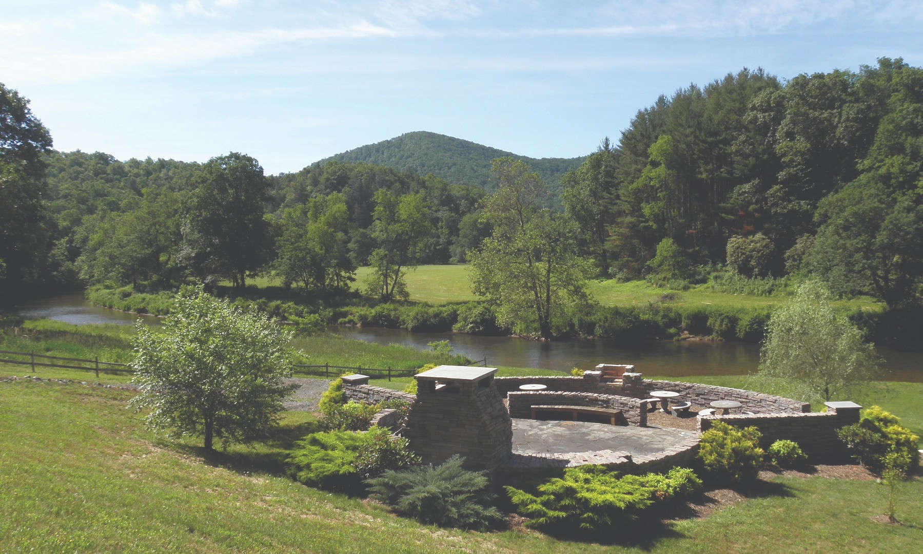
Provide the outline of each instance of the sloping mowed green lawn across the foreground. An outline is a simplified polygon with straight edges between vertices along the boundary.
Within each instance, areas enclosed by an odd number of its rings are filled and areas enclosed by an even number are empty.
[[[310,417],[206,461],[197,440],[165,440],[126,409],[125,391],[0,383],[0,551],[197,552],[911,552],[923,542],[923,480],[905,484],[904,524],[876,523],[874,481],[777,477],[703,520],[614,533],[608,544],[534,531],[416,524],[375,502],[282,475]]]

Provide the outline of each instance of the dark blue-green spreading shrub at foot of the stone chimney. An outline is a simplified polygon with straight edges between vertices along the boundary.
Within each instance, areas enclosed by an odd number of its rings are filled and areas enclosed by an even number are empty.
[[[425,524],[483,529],[497,523],[500,514],[491,506],[487,477],[462,467],[455,455],[444,464],[417,465],[402,471],[386,471],[366,480],[372,497],[394,512]]]

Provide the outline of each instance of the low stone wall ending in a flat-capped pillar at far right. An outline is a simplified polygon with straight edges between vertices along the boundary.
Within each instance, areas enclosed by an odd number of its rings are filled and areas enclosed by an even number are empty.
[[[699,417],[699,430],[708,430],[715,421],[737,428],[754,426],[762,433],[760,446],[763,449],[775,440],[794,440],[812,462],[843,462],[849,459],[849,452],[843,441],[836,436],[836,430],[857,423],[860,408],[854,403],[827,403],[825,413],[702,415]]]

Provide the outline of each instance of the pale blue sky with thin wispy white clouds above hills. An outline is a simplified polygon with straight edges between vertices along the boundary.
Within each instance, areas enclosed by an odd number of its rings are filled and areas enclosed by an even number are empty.
[[[267,173],[408,131],[533,157],[741,67],[923,65],[923,2],[0,0],[0,82],[58,150]]]

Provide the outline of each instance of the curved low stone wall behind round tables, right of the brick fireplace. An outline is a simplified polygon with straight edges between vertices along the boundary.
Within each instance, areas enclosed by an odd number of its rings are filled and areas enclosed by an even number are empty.
[[[638,379],[623,378],[622,394],[626,396],[649,398],[651,391],[676,391],[679,392],[677,401],[689,401],[701,406],[708,406],[715,400],[736,400],[742,404],[740,411],[757,414],[803,414],[810,411],[809,403],[762,392],[701,383],[640,379],[640,375]]]

